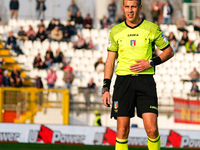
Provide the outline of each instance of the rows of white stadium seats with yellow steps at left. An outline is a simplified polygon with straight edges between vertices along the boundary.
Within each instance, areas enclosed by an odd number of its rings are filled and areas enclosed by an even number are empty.
[[[13,31],[15,36],[19,31],[19,27],[23,26],[24,29],[32,24],[34,29],[37,29],[38,21],[35,20],[9,20],[8,25],[0,25],[1,40],[5,41],[9,31]],[[48,25],[48,21],[45,24]],[[164,34],[168,34],[172,31],[176,35],[177,39],[180,40],[182,32],[178,31],[175,25],[160,25],[161,30]],[[189,31],[189,37],[195,41],[197,44],[200,41],[199,34],[193,30],[193,26],[187,27]],[[11,50],[3,49],[1,44],[0,58],[4,59],[6,65],[2,65],[2,70],[8,69],[11,71],[13,67],[17,66],[18,69],[22,71],[23,77],[26,79],[25,86],[33,86],[34,77],[39,75],[43,81],[44,88],[47,88],[46,76],[47,70],[38,70],[33,68],[34,57],[40,53],[41,58],[44,60],[46,50],[51,46],[53,53],[55,54],[56,49],[60,47],[64,56],[71,61],[71,66],[74,68],[75,79],[72,83],[71,93],[75,101],[84,102],[84,96],[79,93],[79,87],[86,87],[87,81],[90,77],[94,78],[94,82],[100,89],[103,81],[103,73],[98,73],[94,70],[94,63],[99,58],[102,57],[105,62],[107,55],[106,46],[107,38],[109,35],[109,29],[83,29],[82,35],[84,38],[92,38],[95,44],[94,50],[73,49],[72,42],[49,42],[45,40],[40,41],[24,41],[19,42],[20,48],[23,50],[25,55],[14,56]],[[75,40],[73,38],[73,40]],[[185,47],[180,46],[178,52],[175,54],[174,58],[169,60],[156,68],[155,81],[157,83],[157,91],[159,97],[159,105],[162,106],[172,106],[174,96],[187,98],[188,92],[190,92],[191,82],[183,82],[183,79],[189,79],[188,73],[193,67],[200,68],[200,54],[197,53],[186,53]],[[63,71],[60,70],[60,65],[53,65],[54,70],[58,79],[55,83],[56,88],[63,88]],[[112,84],[115,80],[115,75],[112,79]],[[200,86],[200,83],[197,83]],[[111,87],[111,92],[113,88]],[[99,92],[100,93],[100,92]],[[92,101],[99,101],[98,95],[92,95]],[[99,101],[100,102],[100,101]],[[161,110],[162,111],[162,110]]]

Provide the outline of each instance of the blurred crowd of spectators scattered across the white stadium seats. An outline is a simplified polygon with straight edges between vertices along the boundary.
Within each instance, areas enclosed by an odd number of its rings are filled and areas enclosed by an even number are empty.
[[[73,41],[74,49],[95,49],[95,45],[92,39],[84,39],[81,31],[83,29],[93,29],[94,28],[94,18],[91,17],[91,14],[87,14],[85,17],[82,16],[81,10],[74,0],[71,0],[69,7],[67,8],[67,21],[65,24],[59,18],[53,18],[48,26],[45,26],[45,11],[47,9],[45,0],[36,0],[36,19],[40,20],[40,23],[37,25],[37,30],[29,25],[28,30],[24,30],[23,26],[20,27],[20,30],[15,37],[10,31],[8,33],[8,38],[5,41],[4,47],[14,50],[17,55],[24,54],[20,49],[20,46],[17,45],[17,40],[19,41],[56,41],[56,42],[72,42],[74,36],[77,37]],[[20,8],[20,2],[18,0],[10,0],[10,19],[18,19],[18,11]],[[182,33],[181,39],[176,37],[177,34],[170,32],[167,36],[170,45],[174,49],[174,52],[178,52],[180,46],[184,46],[187,53],[200,53],[200,42],[196,42],[194,39],[189,38],[187,26],[189,23],[185,20],[184,16],[181,16],[176,22],[172,22],[172,17],[174,15],[174,6],[170,3],[169,0],[164,2],[154,1],[151,7],[152,20],[157,25],[176,25],[178,32]],[[125,20],[123,10],[121,15],[118,17],[117,14],[117,3],[114,0],[109,0],[107,6],[107,14],[103,15],[99,20],[100,28],[110,29],[113,25],[121,23]],[[146,19],[146,16],[143,12],[140,13],[140,17]],[[0,18],[0,24],[1,24]],[[200,17],[196,17],[193,22],[194,31],[197,33],[200,32]],[[44,60],[44,61],[42,61]],[[64,71],[63,81],[66,83],[65,87],[71,87],[71,84],[74,80],[73,67],[70,65],[70,61],[66,60],[62,50],[58,48],[54,54],[51,50],[51,47],[46,50],[45,58],[41,58],[41,54],[38,53],[34,58],[33,67],[38,69],[47,69],[49,73],[47,75],[47,83],[49,88],[54,88],[57,75],[53,70],[53,64],[62,64],[61,70]],[[97,62],[94,64],[95,71],[103,72],[104,71],[104,62],[100,57]],[[2,86],[14,86],[20,87],[23,86],[24,78],[21,76],[20,71],[17,68],[14,68],[12,74],[8,74],[8,70],[5,70],[2,74],[1,85]],[[41,78],[36,76],[37,87],[43,87]],[[192,81],[198,82],[198,81]],[[194,83],[195,84],[195,83]],[[86,85],[87,86],[87,85]]]

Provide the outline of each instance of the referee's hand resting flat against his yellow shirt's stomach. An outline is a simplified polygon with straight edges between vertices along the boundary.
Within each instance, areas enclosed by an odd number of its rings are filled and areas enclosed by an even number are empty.
[[[144,70],[147,70],[149,68],[151,68],[149,61],[148,60],[136,60],[135,61],[137,64],[131,65],[130,66],[130,70],[134,71],[134,72],[142,72]]]

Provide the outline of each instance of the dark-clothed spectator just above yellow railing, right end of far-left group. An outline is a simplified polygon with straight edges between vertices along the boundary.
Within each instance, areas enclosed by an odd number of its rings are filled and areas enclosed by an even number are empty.
[[[22,87],[24,83],[24,78],[21,76],[20,71],[18,71],[17,67],[13,68],[10,78],[11,84],[13,87]]]

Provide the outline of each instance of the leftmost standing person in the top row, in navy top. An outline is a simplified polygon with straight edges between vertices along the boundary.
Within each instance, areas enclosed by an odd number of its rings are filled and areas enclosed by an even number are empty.
[[[15,16],[15,19],[18,18],[18,10],[19,10],[19,1],[18,0],[11,0],[10,1],[10,19]]]

